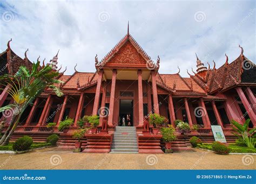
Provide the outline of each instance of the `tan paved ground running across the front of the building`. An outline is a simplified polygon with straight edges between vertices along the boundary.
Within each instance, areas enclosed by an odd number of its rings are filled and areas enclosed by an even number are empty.
[[[255,169],[256,155],[244,156],[203,150],[172,154],[89,154],[51,147],[24,154],[0,154],[0,169]],[[248,159],[255,161],[250,164]]]

